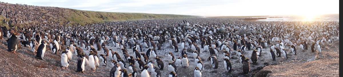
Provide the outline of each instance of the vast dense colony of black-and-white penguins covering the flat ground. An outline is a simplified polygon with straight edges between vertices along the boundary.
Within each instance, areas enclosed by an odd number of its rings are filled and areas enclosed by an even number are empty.
[[[111,77],[137,77],[137,74],[161,77],[164,75],[161,71],[167,71],[169,77],[176,77],[182,73],[179,69],[194,69],[192,75],[201,77],[203,71],[218,70],[218,67],[225,69],[219,71],[223,73],[239,71],[249,74],[250,64],[261,64],[261,59],[289,60],[293,57],[288,55],[297,56],[302,52],[322,54],[325,50],[322,51],[321,46],[339,40],[339,31],[335,28],[339,26],[338,21],[323,22],[328,28],[319,31],[302,29],[324,27],[313,27],[309,23],[278,26],[268,23],[251,25],[262,22],[245,25],[230,22],[198,24],[186,20],[163,25],[159,22],[166,21],[121,21],[60,28],[31,26],[18,30],[1,27],[0,39],[7,41],[7,50],[14,54],[22,46],[28,47],[28,51],[34,52],[35,58],[40,60],[44,60],[45,54],[60,56],[61,69],[68,70],[72,60],[76,62],[75,71],[81,73],[96,73],[100,66],[110,66]],[[194,22],[198,21],[194,19]],[[308,50],[309,45],[311,50]],[[297,49],[300,52],[296,52]],[[239,63],[233,62],[234,59]],[[211,68],[205,69],[205,64]],[[235,68],[233,65],[240,66]]]

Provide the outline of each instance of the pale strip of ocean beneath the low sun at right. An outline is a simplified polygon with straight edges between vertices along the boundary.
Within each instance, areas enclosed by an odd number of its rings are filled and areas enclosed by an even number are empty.
[[[253,18],[267,18],[259,19],[257,21],[339,21],[339,14],[326,14],[317,16],[296,16],[296,15],[283,15],[283,16],[268,16],[268,17],[253,17]]]

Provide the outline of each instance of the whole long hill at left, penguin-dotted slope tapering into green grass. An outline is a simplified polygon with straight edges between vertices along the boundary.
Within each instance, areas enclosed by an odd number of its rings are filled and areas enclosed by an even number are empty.
[[[31,26],[45,24],[85,25],[87,23],[102,23],[109,21],[204,18],[202,16],[191,15],[82,11],[70,8],[10,4],[3,2],[0,3],[0,13],[0,24],[5,26],[7,26],[10,20],[13,22],[11,24],[12,26]],[[3,19],[5,19],[5,22],[3,22]],[[23,22],[20,23],[21,21]]]

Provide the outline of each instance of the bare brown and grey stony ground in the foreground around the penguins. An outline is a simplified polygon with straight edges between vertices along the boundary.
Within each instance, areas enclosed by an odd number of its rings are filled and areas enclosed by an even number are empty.
[[[139,40],[141,42],[141,40]],[[60,54],[54,55],[51,53],[50,49],[47,48],[44,60],[39,60],[35,58],[35,53],[31,52],[28,47],[22,46],[21,49],[17,50],[17,54],[7,51],[7,43],[4,39],[0,40],[0,76],[1,77],[43,77],[43,76],[53,76],[53,77],[108,77],[109,71],[112,66],[109,64],[110,60],[107,59],[108,65],[98,66],[96,72],[93,73],[89,66],[85,66],[86,70],[84,73],[77,73],[76,71],[76,56],[73,54],[73,60],[70,61],[67,70],[61,69]],[[69,44],[69,43],[67,43]],[[178,45],[180,46],[181,43]],[[187,45],[187,43],[186,43]],[[78,45],[80,46],[80,45]],[[200,46],[200,44],[199,44]],[[49,46],[47,46],[49,47]],[[96,47],[96,46],[94,46]],[[115,48],[112,42],[108,42],[106,45],[108,49],[114,49],[119,54],[122,52]],[[165,64],[164,70],[161,70],[162,77],[167,77],[169,75],[167,67],[167,53],[172,51],[169,46],[168,41],[162,44],[162,50],[156,50],[158,57],[160,57]],[[179,47],[180,48],[180,47]],[[189,48],[186,46],[186,48]],[[286,46],[289,49],[290,46]],[[89,50],[85,50],[82,47],[85,54],[89,54]],[[299,46],[297,46],[299,49]],[[181,50],[181,49],[179,49]],[[132,49],[127,49],[129,55],[134,56]],[[146,48],[143,49],[145,53]],[[289,59],[285,60],[283,57],[276,57],[276,61],[272,61],[270,58],[269,48],[264,48],[262,55],[257,63],[250,63],[251,71],[249,74],[242,73],[242,64],[239,64],[238,59],[233,59],[238,57],[237,55],[231,55],[233,71],[230,73],[225,73],[223,54],[218,56],[218,69],[213,69],[210,62],[206,59],[210,56],[209,52],[203,52],[201,49],[201,58],[203,59],[204,71],[202,71],[203,77],[338,77],[339,76],[339,41],[334,41],[334,43],[325,43],[322,45],[322,53],[317,52],[312,53],[309,50],[300,51],[297,54],[289,53]],[[252,50],[246,51],[244,54],[246,57],[250,58]],[[61,52],[59,52],[61,53]],[[104,54],[103,51],[98,51],[100,54]],[[180,52],[173,52],[174,56],[181,56]],[[192,77],[193,70],[196,66],[194,58],[190,52],[187,53],[189,56],[189,67],[188,68],[177,68],[177,75],[179,77]],[[123,56],[121,56],[123,57]],[[150,57],[149,60],[153,60]],[[154,60],[153,60],[154,61]],[[154,64],[155,65],[155,64]],[[140,74],[138,74],[140,75]],[[139,76],[140,77],[140,76]]]

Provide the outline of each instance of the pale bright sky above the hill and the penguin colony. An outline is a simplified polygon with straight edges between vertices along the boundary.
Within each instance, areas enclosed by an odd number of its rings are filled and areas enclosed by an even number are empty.
[[[85,11],[194,16],[339,14],[339,0],[0,0]]]

